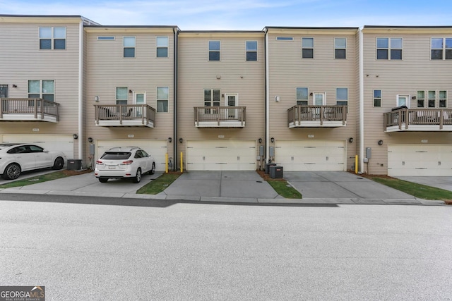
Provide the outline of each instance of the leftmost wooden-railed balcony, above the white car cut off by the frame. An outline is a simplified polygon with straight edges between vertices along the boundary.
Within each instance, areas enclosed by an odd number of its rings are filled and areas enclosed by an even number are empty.
[[[59,121],[59,104],[40,98],[0,98],[0,121]]]

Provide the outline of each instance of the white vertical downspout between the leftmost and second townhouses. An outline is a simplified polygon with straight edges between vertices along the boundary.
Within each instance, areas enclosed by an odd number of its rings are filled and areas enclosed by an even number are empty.
[[[83,19],[78,27],[78,159],[83,159]],[[69,158],[68,158],[69,159]]]

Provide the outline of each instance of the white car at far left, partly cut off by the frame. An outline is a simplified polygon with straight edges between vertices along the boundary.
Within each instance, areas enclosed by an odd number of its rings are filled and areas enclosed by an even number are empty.
[[[26,143],[0,143],[0,172],[5,180],[14,180],[23,171],[49,167],[61,169],[64,164],[64,152],[49,152]]]

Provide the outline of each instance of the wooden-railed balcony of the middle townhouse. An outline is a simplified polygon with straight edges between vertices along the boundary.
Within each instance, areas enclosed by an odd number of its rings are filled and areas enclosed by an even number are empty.
[[[196,106],[196,128],[244,128],[246,106]]]

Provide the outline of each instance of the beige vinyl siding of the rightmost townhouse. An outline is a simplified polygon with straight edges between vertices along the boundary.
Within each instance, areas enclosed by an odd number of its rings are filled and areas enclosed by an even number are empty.
[[[364,147],[372,148],[368,164],[370,173],[386,174],[388,145],[451,144],[449,133],[413,132],[384,133],[383,113],[397,106],[398,94],[410,96],[410,107],[416,109],[417,90],[446,90],[448,108],[452,107],[450,80],[452,60],[430,60],[431,37],[451,37],[452,30],[363,30],[364,32]],[[376,60],[376,37],[402,37],[403,60]],[[369,76],[367,76],[369,75]],[[378,75],[378,76],[377,76]],[[373,106],[373,90],[381,90],[381,108]],[[378,141],[383,140],[379,146]]]

